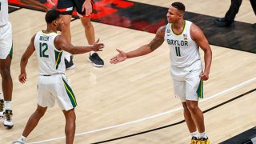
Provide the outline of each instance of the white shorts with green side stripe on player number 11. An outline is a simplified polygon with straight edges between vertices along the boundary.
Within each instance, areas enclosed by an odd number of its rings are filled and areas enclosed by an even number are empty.
[[[203,81],[199,77],[201,73],[201,60],[186,67],[170,66],[170,74],[174,82],[175,97],[180,98],[182,102],[186,102],[186,100],[198,101],[198,98],[203,98]]]

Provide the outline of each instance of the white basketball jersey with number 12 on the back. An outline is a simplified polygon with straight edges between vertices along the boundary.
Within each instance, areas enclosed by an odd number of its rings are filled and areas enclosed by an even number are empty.
[[[34,47],[38,57],[39,75],[65,74],[65,62],[62,50],[54,46],[58,34],[45,34],[39,31],[34,38]]]

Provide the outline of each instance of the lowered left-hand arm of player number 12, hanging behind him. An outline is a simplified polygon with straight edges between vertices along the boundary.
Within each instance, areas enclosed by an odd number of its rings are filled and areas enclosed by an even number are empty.
[[[21,74],[18,76],[18,81],[21,83],[26,82],[26,64],[30,58],[30,56],[34,53],[34,37],[35,35],[31,38],[30,40],[30,45],[27,46],[26,51],[22,55],[21,62],[20,62],[20,67],[21,67]]]

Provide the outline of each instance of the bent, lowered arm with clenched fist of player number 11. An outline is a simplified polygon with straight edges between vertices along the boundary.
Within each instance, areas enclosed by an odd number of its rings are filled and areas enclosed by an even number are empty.
[[[202,30],[194,24],[192,24],[192,26],[191,26],[190,34],[191,34],[191,38],[204,51],[205,69],[202,72],[202,74],[200,74],[200,78],[202,78],[202,80],[206,81],[209,79],[210,65],[211,65],[211,60],[212,60],[212,51],[210,49],[209,42],[206,39],[205,35],[203,34]]]

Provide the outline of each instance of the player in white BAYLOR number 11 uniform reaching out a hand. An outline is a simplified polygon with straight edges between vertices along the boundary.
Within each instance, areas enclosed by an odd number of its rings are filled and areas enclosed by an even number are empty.
[[[174,82],[174,94],[182,101],[186,125],[192,135],[191,143],[208,144],[210,142],[206,136],[202,111],[198,107],[198,98],[202,98],[202,81],[209,78],[212,52],[202,30],[183,19],[184,12],[185,6],[181,2],[172,3],[166,14],[168,24],[158,29],[149,44],[128,53],[118,50],[119,54],[111,58],[110,63],[116,64],[126,58],[149,54],[166,41],[170,47],[170,74]],[[204,70],[199,47],[204,51]]]

